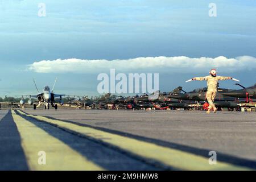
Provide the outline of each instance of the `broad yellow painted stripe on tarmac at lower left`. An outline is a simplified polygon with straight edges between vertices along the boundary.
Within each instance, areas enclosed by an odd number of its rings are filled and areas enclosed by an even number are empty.
[[[31,170],[103,170],[67,144],[17,115],[14,110],[11,110],[11,114],[20,133],[22,147]],[[44,155],[39,151],[46,152],[46,165],[38,163]]]

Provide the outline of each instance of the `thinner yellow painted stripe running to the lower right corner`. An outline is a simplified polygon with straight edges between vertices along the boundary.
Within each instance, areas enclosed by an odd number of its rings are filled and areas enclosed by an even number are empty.
[[[122,150],[131,152],[132,154],[141,156],[146,159],[154,159],[167,166],[175,167],[185,170],[249,170],[249,168],[234,166],[233,164],[218,162],[216,165],[210,165],[209,158],[191,154],[168,147],[158,146],[154,143],[144,142],[133,138],[123,137],[121,135],[108,133],[93,129],[86,126],[79,126],[69,122],[63,122],[58,119],[49,119],[46,117],[31,115],[23,113],[18,110],[20,114],[26,115],[31,118],[38,119],[39,121],[57,125],[62,129],[72,130],[76,133],[85,135],[86,137],[94,138],[102,142],[112,144]]]

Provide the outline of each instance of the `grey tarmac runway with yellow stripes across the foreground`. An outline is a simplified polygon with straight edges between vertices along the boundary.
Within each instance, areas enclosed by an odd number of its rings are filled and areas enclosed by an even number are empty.
[[[100,169],[256,169],[256,112],[220,111],[216,114],[205,114],[204,111],[169,110],[24,111],[25,114],[16,113],[17,116],[8,110],[0,111],[0,169],[44,169],[31,167],[33,165],[30,162],[26,164],[27,155],[30,155],[29,152],[34,148],[30,147],[31,145],[24,148],[24,144],[19,144],[20,140],[26,139],[26,133],[37,128],[47,133],[48,137],[59,139],[72,151],[95,164],[93,167]],[[22,119],[32,123],[35,129],[23,126]],[[15,123],[18,126],[16,130],[13,129]],[[4,132],[6,129],[10,130],[9,134]],[[9,135],[15,134],[20,136],[11,139]],[[10,146],[10,143],[16,143],[18,146],[11,145],[9,150],[13,148],[11,154],[16,151],[15,158],[20,161],[20,165],[9,162],[13,156],[9,156],[6,147]],[[138,146],[133,148],[133,144]],[[147,150],[143,151],[144,149]],[[209,151],[217,152],[217,168],[208,163]],[[72,153],[71,158],[78,155],[77,153]],[[66,155],[69,156],[69,153]],[[182,161],[181,158],[187,160]],[[93,170],[93,167],[86,169]],[[64,168],[54,166],[51,169]]]

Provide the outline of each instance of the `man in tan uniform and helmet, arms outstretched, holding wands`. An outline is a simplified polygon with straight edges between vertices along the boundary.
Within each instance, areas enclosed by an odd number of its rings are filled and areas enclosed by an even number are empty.
[[[216,113],[217,108],[214,105],[214,98],[216,97],[217,93],[217,85],[218,85],[218,80],[232,80],[232,77],[225,77],[225,76],[216,76],[216,69],[211,69],[210,70],[210,75],[205,76],[205,77],[195,77],[192,78],[192,80],[207,80],[207,101],[209,103],[209,107],[207,110],[207,114],[210,113],[210,110],[213,109],[213,113]]]

